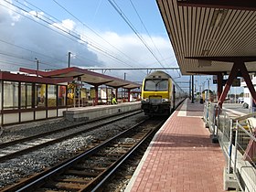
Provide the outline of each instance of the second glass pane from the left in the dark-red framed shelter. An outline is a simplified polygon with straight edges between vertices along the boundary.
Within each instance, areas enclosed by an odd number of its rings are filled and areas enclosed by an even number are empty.
[[[20,85],[20,107],[21,109],[32,108],[32,83],[21,82]]]

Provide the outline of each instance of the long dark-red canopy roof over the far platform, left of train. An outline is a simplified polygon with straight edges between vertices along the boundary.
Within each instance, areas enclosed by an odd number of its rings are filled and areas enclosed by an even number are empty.
[[[76,67],[66,69],[56,69],[51,71],[37,71],[35,69],[20,68],[21,72],[29,74],[38,74],[47,78],[68,78],[72,77],[74,80],[81,80],[88,84],[99,86],[105,84],[113,88],[123,87],[124,89],[135,89],[141,87],[140,84],[131,82],[129,80],[121,80],[112,76],[96,73],[88,69],[80,69]]]

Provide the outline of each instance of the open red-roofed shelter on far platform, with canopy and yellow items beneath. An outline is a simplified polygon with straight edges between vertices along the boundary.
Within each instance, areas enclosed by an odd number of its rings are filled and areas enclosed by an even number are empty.
[[[20,71],[30,74],[37,73],[37,71],[33,69],[22,68]],[[121,80],[88,69],[76,67],[56,69],[47,72],[38,71],[38,74],[46,78],[73,78],[72,82],[69,82],[68,85],[68,104],[74,107],[88,104],[98,105],[110,103],[112,101],[112,93],[114,93],[116,97],[119,95],[119,88],[127,90],[126,101],[131,101],[131,91],[141,87],[140,84],[129,80]],[[90,86],[85,87],[85,85]],[[120,98],[120,101],[121,99],[123,98]]]

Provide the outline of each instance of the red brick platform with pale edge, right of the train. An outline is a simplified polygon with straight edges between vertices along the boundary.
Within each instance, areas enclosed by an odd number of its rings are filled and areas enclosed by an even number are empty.
[[[202,120],[203,104],[186,100],[155,134],[125,191],[219,192],[225,158]]]

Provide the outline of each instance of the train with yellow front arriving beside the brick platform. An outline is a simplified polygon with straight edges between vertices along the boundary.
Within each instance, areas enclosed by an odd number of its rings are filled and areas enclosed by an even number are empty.
[[[169,115],[186,98],[187,93],[162,70],[155,70],[144,78],[141,109],[145,115]]]

